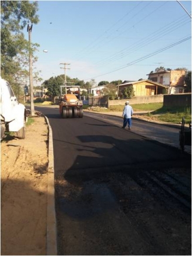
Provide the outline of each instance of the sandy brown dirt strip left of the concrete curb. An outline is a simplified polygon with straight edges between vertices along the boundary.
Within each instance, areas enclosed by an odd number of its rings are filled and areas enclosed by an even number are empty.
[[[1,255],[46,255],[48,125],[1,142]]]

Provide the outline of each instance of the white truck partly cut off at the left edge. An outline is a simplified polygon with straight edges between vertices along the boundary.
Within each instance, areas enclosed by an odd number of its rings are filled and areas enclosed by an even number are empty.
[[[25,106],[18,102],[8,81],[0,78],[1,139],[7,132],[15,132],[15,137],[25,138],[27,121]]]

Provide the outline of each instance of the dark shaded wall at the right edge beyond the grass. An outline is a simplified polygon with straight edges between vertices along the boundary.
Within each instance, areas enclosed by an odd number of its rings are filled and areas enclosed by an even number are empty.
[[[163,95],[163,106],[191,107],[191,93]]]

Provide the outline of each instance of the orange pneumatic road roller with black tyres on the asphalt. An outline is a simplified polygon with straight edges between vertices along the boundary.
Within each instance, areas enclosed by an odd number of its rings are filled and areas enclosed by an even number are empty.
[[[66,89],[66,94],[62,94],[62,88]],[[67,91],[68,88],[68,91]],[[82,118],[83,101],[80,100],[79,86],[60,87],[59,112],[62,118]]]

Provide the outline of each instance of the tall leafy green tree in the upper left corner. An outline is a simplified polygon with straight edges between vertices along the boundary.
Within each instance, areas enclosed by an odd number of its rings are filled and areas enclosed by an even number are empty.
[[[29,22],[39,22],[37,11],[37,1],[1,1],[1,76],[11,83],[14,91],[29,76],[29,42],[22,30]],[[38,46],[31,44],[32,55]],[[34,56],[33,61],[36,61]]]

